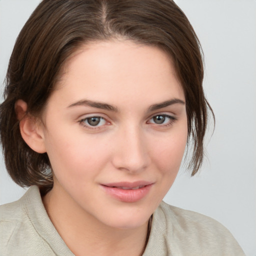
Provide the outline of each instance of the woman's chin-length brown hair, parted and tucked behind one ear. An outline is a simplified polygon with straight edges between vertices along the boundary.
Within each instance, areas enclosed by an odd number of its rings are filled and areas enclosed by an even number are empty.
[[[197,172],[211,108],[202,89],[200,44],[179,7],[172,0],[43,0],[17,37],[0,105],[5,164],[17,184],[46,191],[53,181],[47,154],[33,151],[21,137],[15,101],[24,100],[27,112],[40,116],[65,59],[84,43],[115,37],[156,45],[171,56],[185,94],[188,141],[193,141],[189,167],[192,175]]]

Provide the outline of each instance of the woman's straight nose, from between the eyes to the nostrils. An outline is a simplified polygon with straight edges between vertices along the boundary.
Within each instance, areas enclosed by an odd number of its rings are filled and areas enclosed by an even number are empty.
[[[119,130],[114,141],[112,163],[116,168],[134,173],[149,165],[148,143],[139,126]]]

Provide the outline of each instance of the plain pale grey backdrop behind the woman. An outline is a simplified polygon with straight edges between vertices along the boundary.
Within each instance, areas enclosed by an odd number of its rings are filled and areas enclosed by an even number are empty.
[[[0,83],[15,38],[39,0],[0,0]],[[181,167],[164,200],[224,224],[256,256],[256,0],[176,0],[205,55],[204,89],[216,117],[200,173]],[[1,86],[2,92],[3,86]],[[0,204],[25,190],[0,159]]]

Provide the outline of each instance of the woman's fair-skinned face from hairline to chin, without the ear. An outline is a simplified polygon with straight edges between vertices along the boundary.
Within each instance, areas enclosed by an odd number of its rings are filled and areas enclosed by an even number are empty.
[[[170,59],[130,41],[78,50],[43,120],[52,193],[116,228],[148,220],[176,177],[187,139],[184,93]]]

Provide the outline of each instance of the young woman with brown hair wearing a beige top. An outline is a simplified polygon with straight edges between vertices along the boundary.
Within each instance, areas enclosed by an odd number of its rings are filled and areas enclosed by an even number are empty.
[[[43,0],[0,107],[4,255],[243,255],[216,221],[161,202],[187,141],[202,162],[198,39],[169,0]]]

